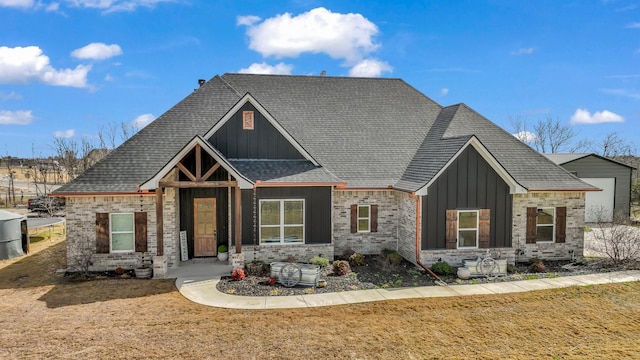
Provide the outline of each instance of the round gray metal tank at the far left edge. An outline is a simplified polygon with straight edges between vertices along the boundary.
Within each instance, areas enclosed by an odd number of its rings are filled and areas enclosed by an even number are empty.
[[[22,256],[29,250],[27,218],[0,210],[0,260]]]

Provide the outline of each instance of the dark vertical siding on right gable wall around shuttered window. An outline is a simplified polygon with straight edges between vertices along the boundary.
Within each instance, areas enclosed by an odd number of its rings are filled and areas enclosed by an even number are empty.
[[[509,185],[468,147],[422,198],[422,250],[446,248],[447,210],[490,210],[489,247],[511,246],[513,199]]]

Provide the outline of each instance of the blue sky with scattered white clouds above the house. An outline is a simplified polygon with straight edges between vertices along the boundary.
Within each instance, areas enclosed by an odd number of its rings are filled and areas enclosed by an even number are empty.
[[[640,150],[635,1],[0,0],[0,155],[141,128],[216,74],[322,70]]]

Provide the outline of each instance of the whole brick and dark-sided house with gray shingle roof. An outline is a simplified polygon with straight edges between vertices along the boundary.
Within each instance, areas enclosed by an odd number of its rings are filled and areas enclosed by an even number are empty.
[[[69,258],[154,255],[162,276],[219,244],[234,266],[386,248],[425,265],[581,257],[594,190],[400,79],[225,74],[57,193]]]

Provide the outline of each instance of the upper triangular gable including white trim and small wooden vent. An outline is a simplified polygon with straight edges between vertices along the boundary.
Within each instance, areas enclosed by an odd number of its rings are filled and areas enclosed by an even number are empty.
[[[228,159],[309,160],[307,151],[247,93],[204,138]]]

